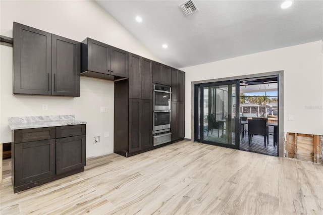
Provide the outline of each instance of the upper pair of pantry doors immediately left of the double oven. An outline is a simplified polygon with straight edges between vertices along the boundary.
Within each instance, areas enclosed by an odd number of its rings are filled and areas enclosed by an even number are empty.
[[[152,99],[152,61],[129,53],[129,98]]]

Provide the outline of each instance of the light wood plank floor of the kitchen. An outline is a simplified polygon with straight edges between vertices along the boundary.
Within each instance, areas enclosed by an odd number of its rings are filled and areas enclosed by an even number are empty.
[[[91,158],[18,194],[8,175],[0,214],[323,214],[322,165],[189,141]]]

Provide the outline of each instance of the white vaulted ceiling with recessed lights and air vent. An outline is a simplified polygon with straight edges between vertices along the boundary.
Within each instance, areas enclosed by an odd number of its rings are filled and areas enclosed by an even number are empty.
[[[157,58],[183,68],[323,39],[323,1],[98,1]],[[136,16],[142,18],[139,23]],[[163,48],[168,44],[168,48]]]

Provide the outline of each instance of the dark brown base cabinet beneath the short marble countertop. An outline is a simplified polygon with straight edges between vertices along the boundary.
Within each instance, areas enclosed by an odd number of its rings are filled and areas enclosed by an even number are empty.
[[[12,131],[14,192],[84,171],[86,125]]]

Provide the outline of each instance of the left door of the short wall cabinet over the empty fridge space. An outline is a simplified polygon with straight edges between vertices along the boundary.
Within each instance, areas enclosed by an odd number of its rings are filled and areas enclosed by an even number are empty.
[[[87,48],[87,67],[84,65],[83,70],[110,74],[110,45],[86,38],[84,49]],[[83,48],[82,47],[82,48]],[[86,53],[86,52],[85,52]],[[84,61],[86,62],[86,61]]]

